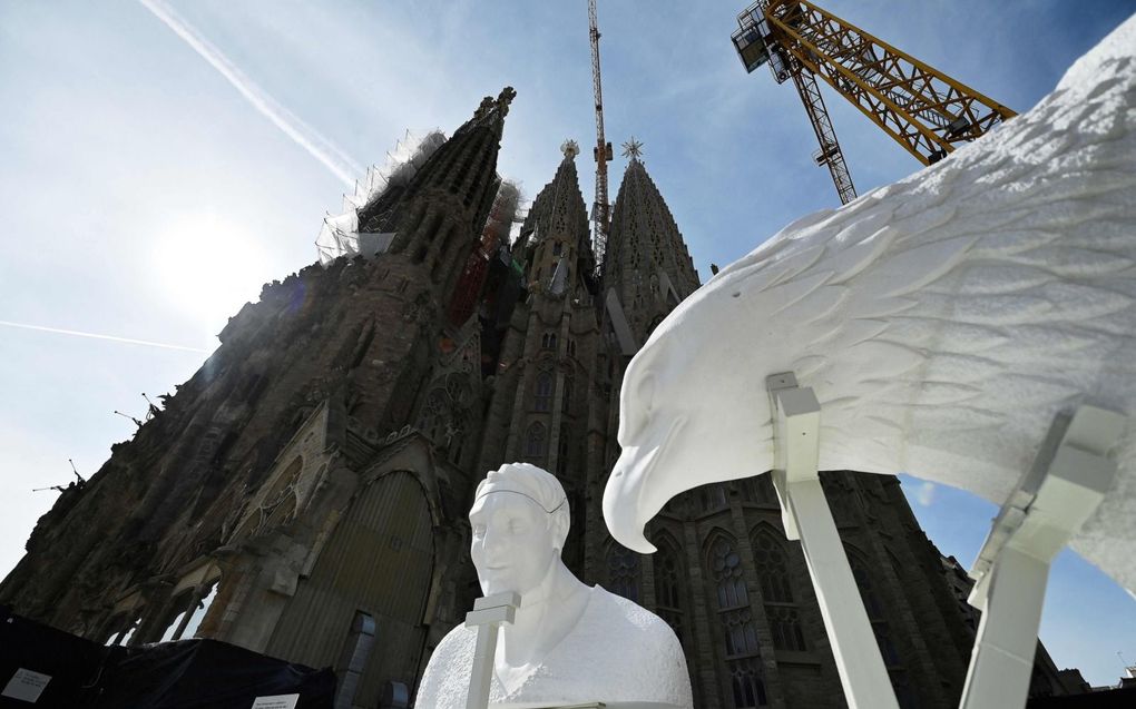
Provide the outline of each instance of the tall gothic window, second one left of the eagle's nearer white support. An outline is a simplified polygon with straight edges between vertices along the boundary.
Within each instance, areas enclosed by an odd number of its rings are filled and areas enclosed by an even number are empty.
[[[761,651],[750,613],[750,594],[742,577],[742,558],[734,540],[719,534],[710,545],[708,562],[716,586],[718,624],[729,673],[728,697],[733,699],[734,709],[765,707]]]

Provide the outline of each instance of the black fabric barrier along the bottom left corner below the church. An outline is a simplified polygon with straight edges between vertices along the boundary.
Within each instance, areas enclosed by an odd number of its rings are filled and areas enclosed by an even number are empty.
[[[257,697],[299,694],[296,709],[332,709],[335,674],[216,640],[103,648],[0,609],[0,690],[18,668],[51,675],[39,709],[250,709]]]

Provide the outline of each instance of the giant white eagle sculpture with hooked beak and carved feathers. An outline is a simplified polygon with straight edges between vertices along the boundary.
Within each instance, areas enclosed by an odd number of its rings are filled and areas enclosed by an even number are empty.
[[[820,470],[1002,504],[1054,416],[1136,421],[1136,18],[1028,113],[801,219],[683,302],[629,364],[603,510],[624,546],[675,495],[772,467],[766,377],[820,400]],[[1071,546],[1136,590],[1136,425]]]

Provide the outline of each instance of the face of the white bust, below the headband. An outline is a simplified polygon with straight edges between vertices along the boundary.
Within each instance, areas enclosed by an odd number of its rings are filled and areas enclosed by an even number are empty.
[[[469,554],[486,596],[516,591],[524,597],[560,559],[562,542],[549,513],[518,492],[491,491],[477,498],[469,524],[474,531]]]

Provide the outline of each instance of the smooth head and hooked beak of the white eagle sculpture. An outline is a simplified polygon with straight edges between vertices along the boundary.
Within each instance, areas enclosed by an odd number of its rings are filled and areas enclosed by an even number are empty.
[[[621,453],[603,516],[612,537],[641,554],[654,551],[644,525],[675,495],[769,470],[766,372],[747,361],[777,335],[753,327],[747,294],[730,280],[719,275],[684,301],[624,374]]]

